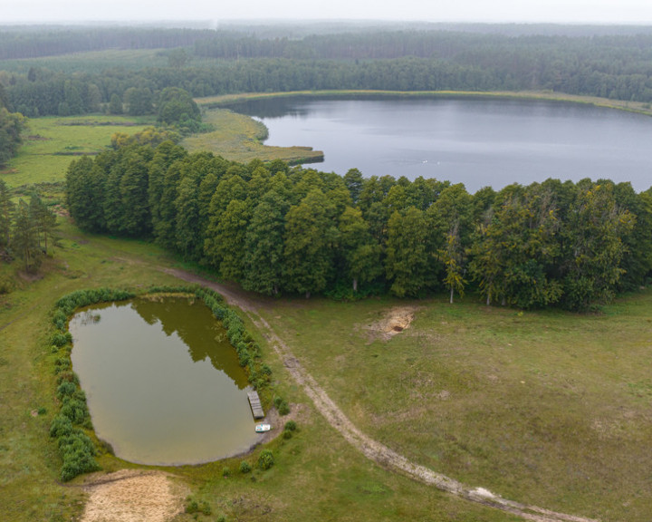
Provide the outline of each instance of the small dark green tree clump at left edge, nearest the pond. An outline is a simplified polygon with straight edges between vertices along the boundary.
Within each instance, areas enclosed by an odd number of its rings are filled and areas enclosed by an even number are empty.
[[[0,179],[0,256],[11,260],[18,256],[24,270],[35,271],[55,242],[56,215],[41,198],[14,204],[11,191]]]

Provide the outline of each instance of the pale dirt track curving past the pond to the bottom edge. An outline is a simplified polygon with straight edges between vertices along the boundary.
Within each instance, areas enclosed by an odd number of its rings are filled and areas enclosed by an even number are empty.
[[[207,281],[202,277],[182,270],[166,269],[164,271],[184,281],[212,288],[223,295],[228,304],[240,308],[264,335],[274,352],[283,361],[283,365],[287,371],[292,375],[292,379],[302,386],[303,391],[311,398],[321,415],[354,448],[360,450],[365,457],[377,462],[383,468],[408,475],[408,477],[414,478],[419,482],[434,486],[472,502],[513,513],[526,520],[534,520],[536,522],[598,522],[593,518],[576,517],[542,507],[528,506],[514,502],[513,500],[495,495],[485,488],[471,488],[458,482],[455,478],[446,477],[446,475],[436,473],[432,469],[412,462],[393,449],[389,449],[384,444],[379,443],[377,440],[371,439],[358,430],[347,416],[344,415],[344,412],[331,400],[328,393],[321,388],[319,383],[312,378],[312,375],[306,372],[301,363],[292,355],[292,351],[288,345],[273,331],[272,326],[258,314],[258,309],[264,307],[264,298],[258,299],[255,296],[245,295],[244,292],[234,288]]]

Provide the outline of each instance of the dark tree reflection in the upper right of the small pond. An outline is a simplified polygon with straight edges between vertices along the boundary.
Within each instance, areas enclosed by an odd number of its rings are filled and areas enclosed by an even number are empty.
[[[194,362],[206,361],[207,358],[239,389],[248,385],[225,329],[204,304],[190,304],[184,298],[168,297],[161,301],[135,299],[131,307],[147,324],[160,324],[168,337],[177,333]]]

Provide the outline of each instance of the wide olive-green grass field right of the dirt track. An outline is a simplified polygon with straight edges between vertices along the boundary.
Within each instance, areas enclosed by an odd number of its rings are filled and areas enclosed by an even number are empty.
[[[375,325],[415,304],[382,340]],[[599,315],[442,298],[297,300],[265,316],[360,429],[408,458],[505,498],[649,520],[649,290]]]

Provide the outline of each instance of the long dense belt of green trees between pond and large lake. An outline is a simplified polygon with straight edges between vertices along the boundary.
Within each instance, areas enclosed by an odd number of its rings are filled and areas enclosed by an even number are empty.
[[[487,304],[589,310],[647,281],[652,191],[548,179],[466,192],[436,179],[241,165],[172,142],[72,162],[72,218],[152,237],[266,295],[467,290]]]

